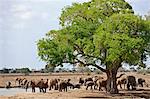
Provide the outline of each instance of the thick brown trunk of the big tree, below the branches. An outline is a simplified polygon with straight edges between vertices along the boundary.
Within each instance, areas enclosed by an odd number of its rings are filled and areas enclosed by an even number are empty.
[[[107,85],[106,85],[106,90],[107,92],[111,94],[117,94],[118,93],[118,88],[117,88],[117,69],[111,69],[106,72],[107,74]]]

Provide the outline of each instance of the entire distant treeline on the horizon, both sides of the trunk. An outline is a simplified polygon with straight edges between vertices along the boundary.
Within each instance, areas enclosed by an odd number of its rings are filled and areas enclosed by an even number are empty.
[[[130,67],[129,70],[126,70],[125,68],[121,67],[118,70],[119,72],[138,72],[138,73],[150,73],[150,67],[147,69],[142,69],[142,68],[134,68]],[[32,69],[30,70],[29,68],[16,68],[16,69],[10,69],[10,68],[3,68],[0,70],[0,73],[24,73],[24,74],[29,74],[29,73],[58,73],[58,72],[78,72],[78,73],[91,73],[95,72],[96,74],[101,74],[102,71],[96,68],[88,68],[88,67],[77,67],[77,68],[72,68],[66,69],[66,68],[52,68],[52,67],[45,67],[44,69],[40,70],[35,70]]]

